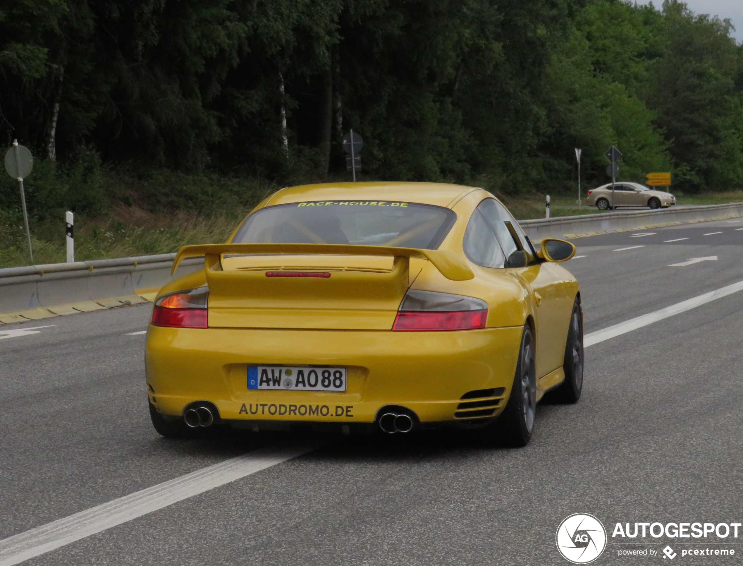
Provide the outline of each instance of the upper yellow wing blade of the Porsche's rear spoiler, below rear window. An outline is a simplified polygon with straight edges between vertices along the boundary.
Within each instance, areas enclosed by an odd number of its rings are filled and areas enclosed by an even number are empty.
[[[473,279],[472,269],[464,260],[450,250],[421,250],[417,248],[392,248],[380,245],[344,245],[344,244],[205,244],[184,245],[178,250],[173,260],[171,274],[187,257],[201,257],[207,266],[213,268],[220,264],[224,254],[229,255],[354,255],[354,256],[387,256],[429,260],[444,277],[452,281]]]

